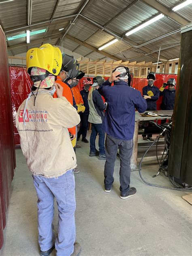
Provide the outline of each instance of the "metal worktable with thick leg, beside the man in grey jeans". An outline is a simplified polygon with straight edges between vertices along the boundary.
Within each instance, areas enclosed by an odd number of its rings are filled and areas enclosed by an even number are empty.
[[[160,115],[173,115],[173,110],[153,110],[148,111]],[[138,131],[139,131],[139,121],[153,121],[159,119],[171,119],[171,116],[152,116],[152,117],[143,117],[139,112],[135,112],[135,128],[134,128],[134,137],[133,137],[133,153],[131,157],[131,169],[137,169],[137,148],[138,148]]]

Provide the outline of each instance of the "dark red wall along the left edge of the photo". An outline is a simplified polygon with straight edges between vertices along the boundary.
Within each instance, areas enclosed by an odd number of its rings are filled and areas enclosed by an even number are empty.
[[[9,66],[5,36],[0,26],[0,249],[3,245],[3,228],[9,206],[11,182],[15,168],[15,147],[13,142],[13,119]]]

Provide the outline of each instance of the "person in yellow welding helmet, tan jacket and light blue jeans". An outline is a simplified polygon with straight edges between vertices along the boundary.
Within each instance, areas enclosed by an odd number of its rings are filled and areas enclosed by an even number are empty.
[[[68,128],[79,124],[80,117],[62,96],[63,87],[55,83],[62,66],[60,49],[49,44],[30,49],[26,62],[34,85],[17,111],[16,127],[38,196],[40,255],[50,255],[54,248],[56,255],[77,255],[81,250],[75,243],[73,171],[77,161]],[[58,98],[52,96],[54,88]],[[52,225],[54,198],[59,212],[57,237]]]

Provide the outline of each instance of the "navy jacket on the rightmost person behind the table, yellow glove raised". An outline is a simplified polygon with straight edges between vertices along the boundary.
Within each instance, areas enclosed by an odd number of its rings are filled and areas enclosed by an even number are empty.
[[[160,96],[163,96],[161,109],[173,110],[175,104],[175,90],[169,91],[164,89],[163,92],[160,92]]]

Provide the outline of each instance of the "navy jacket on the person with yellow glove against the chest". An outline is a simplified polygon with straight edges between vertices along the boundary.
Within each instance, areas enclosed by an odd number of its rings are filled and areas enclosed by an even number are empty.
[[[143,87],[143,96],[151,96],[151,99],[147,99],[147,110],[157,109],[157,100],[159,98],[159,88],[156,86],[147,85]]]

